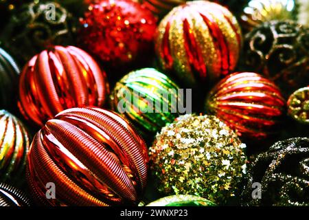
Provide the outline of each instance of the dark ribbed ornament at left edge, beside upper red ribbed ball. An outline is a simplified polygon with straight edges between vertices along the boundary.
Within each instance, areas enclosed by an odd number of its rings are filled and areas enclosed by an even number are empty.
[[[11,109],[15,104],[19,72],[12,56],[0,48],[0,108]]]

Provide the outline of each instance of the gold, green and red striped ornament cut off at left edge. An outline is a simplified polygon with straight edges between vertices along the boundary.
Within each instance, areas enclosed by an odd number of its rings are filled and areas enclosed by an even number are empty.
[[[21,186],[30,135],[22,122],[5,110],[0,110],[0,140],[0,181]]]

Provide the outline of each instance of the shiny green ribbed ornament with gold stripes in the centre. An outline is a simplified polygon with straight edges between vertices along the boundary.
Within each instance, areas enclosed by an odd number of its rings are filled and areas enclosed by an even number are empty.
[[[156,69],[130,72],[116,83],[111,107],[132,122],[144,137],[152,137],[178,116],[179,87]]]

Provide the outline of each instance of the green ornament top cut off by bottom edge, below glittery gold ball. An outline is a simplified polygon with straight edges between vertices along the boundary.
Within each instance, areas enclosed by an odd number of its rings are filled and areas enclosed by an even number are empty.
[[[216,206],[216,204],[196,195],[170,195],[152,201],[147,206]]]

